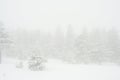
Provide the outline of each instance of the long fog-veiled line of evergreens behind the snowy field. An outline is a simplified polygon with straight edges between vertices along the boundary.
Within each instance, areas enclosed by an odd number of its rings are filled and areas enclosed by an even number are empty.
[[[76,36],[73,26],[68,25],[65,33],[60,26],[54,34],[40,31],[17,32],[11,55],[19,58],[40,55],[71,63],[120,62],[120,36],[117,28],[91,31],[84,28],[81,31]]]

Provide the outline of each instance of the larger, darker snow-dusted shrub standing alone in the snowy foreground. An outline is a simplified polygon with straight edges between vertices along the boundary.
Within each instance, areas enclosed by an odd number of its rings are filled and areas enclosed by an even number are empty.
[[[32,71],[40,71],[45,69],[45,62],[42,57],[32,56],[28,61],[28,68]]]

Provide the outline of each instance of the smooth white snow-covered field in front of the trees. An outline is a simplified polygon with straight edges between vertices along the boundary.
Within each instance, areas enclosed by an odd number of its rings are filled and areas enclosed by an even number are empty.
[[[73,65],[49,59],[44,71],[30,71],[26,63],[16,68],[17,60],[12,62],[0,65],[0,80],[120,80],[117,65]]]

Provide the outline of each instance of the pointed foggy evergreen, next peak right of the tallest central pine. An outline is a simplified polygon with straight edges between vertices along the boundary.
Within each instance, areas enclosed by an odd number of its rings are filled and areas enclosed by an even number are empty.
[[[76,61],[87,62],[88,59],[88,32],[87,28],[83,28],[83,32],[75,41]]]

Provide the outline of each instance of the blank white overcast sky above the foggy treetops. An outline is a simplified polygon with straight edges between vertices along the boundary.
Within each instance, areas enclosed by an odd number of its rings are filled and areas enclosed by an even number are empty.
[[[0,0],[0,12],[0,20],[14,29],[120,26],[120,0]]]

